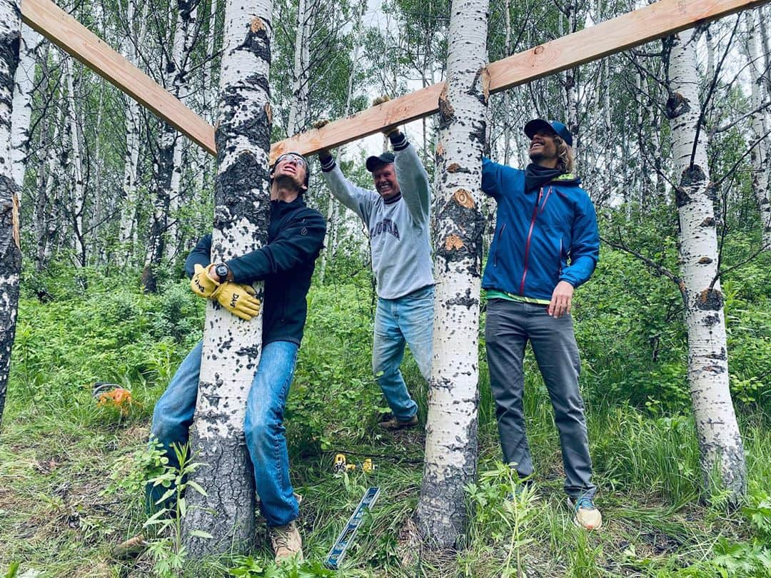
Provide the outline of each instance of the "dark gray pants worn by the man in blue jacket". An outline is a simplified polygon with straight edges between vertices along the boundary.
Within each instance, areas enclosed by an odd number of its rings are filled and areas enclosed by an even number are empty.
[[[520,478],[533,473],[522,408],[522,361],[528,339],[560,432],[565,492],[572,498],[594,496],[584,400],[578,391],[581,360],[573,319],[569,314],[552,318],[544,305],[490,299],[485,340],[503,459],[516,464]]]

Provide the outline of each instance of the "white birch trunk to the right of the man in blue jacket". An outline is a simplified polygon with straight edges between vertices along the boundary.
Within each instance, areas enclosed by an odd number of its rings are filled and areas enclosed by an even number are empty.
[[[746,492],[742,437],[729,391],[726,321],[718,273],[714,191],[706,145],[694,143],[699,86],[692,30],[672,37],[667,114],[679,176],[681,290],[688,329],[688,378],[705,488],[727,489],[733,502]],[[703,133],[702,133],[703,134]]]

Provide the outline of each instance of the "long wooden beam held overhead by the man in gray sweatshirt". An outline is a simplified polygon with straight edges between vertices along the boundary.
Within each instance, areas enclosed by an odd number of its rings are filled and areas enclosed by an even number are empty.
[[[769,0],[659,0],[534,49],[491,62],[487,66],[490,92],[510,89],[766,2]],[[316,153],[377,133],[385,126],[432,115],[439,110],[439,94],[443,88],[444,83],[440,82],[329,123],[322,129],[291,136],[274,143],[271,157],[287,151]]]

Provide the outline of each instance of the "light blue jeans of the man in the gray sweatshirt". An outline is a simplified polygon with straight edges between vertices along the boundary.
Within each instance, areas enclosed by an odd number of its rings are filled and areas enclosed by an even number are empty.
[[[372,371],[393,415],[402,422],[418,412],[399,371],[405,343],[426,381],[431,375],[433,294],[429,286],[396,299],[378,298]]]

